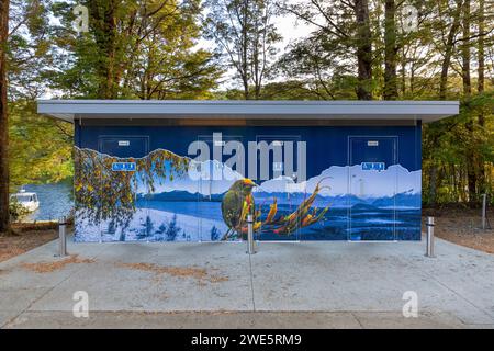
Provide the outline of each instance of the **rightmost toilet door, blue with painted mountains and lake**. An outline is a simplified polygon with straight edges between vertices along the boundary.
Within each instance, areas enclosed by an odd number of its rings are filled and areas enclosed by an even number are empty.
[[[395,240],[397,137],[350,136],[348,240]]]

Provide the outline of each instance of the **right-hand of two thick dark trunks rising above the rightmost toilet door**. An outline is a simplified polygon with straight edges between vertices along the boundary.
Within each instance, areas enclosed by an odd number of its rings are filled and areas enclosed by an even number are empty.
[[[384,4],[384,100],[397,99],[396,82],[396,4],[385,0]]]

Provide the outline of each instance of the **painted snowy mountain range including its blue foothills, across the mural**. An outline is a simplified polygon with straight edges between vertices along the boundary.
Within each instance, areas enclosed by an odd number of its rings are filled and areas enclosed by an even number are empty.
[[[216,169],[221,179],[210,180]],[[181,178],[157,182],[149,194],[139,186],[139,199],[148,201],[221,201],[235,180],[243,176],[217,160],[202,162]],[[290,177],[279,177],[254,189],[255,199],[260,201],[277,197],[279,203],[300,203],[306,194],[314,192],[321,182],[322,190],[315,204],[333,207],[348,207],[368,204],[377,207],[420,207],[420,171],[408,171],[400,165],[383,171],[362,170],[360,165],[332,166],[321,174],[296,183]]]

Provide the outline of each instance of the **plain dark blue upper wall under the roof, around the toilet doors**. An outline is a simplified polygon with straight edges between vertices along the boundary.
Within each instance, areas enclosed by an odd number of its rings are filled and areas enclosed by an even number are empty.
[[[211,136],[213,133],[222,133],[224,136],[243,136],[244,141],[256,140],[256,136],[282,136],[297,135],[307,141],[307,173],[317,174],[327,168],[327,162],[334,166],[346,166],[348,161],[348,136],[397,136],[398,137],[398,161],[404,168],[414,171],[422,167],[420,160],[420,125],[394,126],[394,127],[125,127],[125,126],[79,126],[76,124],[76,141],[80,148],[98,150],[100,136],[148,136],[149,150],[166,148],[178,155],[187,155],[187,148],[198,136]],[[132,146],[128,149],[132,154]],[[120,155],[115,155],[120,156]],[[145,155],[133,155],[143,157]]]

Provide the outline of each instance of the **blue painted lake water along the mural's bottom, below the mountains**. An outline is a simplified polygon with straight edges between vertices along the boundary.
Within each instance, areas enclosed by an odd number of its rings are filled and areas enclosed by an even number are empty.
[[[175,214],[179,218],[187,216],[188,227],[198,228],[198,239],[209,240],[212,228],[211,223],[216,223],[216,228],[226,229],[223,224],[220,202],[141,202],[138,207],[149,208],[154,215],[149,220],[159,225],[160,212]],[[294,211],[289,205],[280,204],[278,215],[288,215]],[[191,217],[192,216],[192,217]],[[266,216],[266,212],[263,212]],[[261,217],[261,219],[265,219]],[[419,240],[420,223],[419,208],[379,208],[374,206],[353,206],[329,208],[324,219],[312,226],[296,230],[291,235],[277,235],[270,230],[261,230],[256,234],[260,240]],[[195,220],[195,223],[191,223]],[[206,224],[207,223],[207,224]],[[190,231],[190,229],[189,229]],[[155,238],[156,239],[156,238]],[[192,238],[193,240],[193,238]]]

